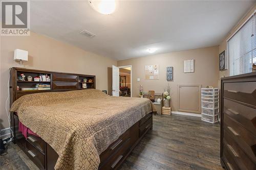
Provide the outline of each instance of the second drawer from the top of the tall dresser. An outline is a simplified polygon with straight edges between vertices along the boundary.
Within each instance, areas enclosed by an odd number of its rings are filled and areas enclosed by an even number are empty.
[[[245,129],[256,136],[256,109],[236,102],[223,100],[223,112],[237,120]]]

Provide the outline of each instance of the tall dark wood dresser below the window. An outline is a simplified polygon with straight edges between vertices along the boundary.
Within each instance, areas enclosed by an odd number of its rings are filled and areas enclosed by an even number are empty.
[[[221,164],[256,169],[256,72],[221,79]]]

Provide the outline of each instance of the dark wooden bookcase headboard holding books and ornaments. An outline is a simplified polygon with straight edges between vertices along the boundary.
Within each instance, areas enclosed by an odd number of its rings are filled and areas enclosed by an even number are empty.
[[[19,80],[19,77],[22,74],[26,76],[25,80]],[[35,77],[43,77],[46,75],[50,78],[50,80],[34,80]],[[86,89],[95,89],[96,87],[96,76],[92,75],[12,67],[10,70],[10,76],[10,106],[15,100],[25,94],[82,90],[84,89],[82,88],[83,79],[87,79]],[[28,76],[32,77],[32,81],[28,80]],[[91,80],[91,82],[89,82],[89,80]],[[28,90],[29,88],[31,88],[31,90]]]

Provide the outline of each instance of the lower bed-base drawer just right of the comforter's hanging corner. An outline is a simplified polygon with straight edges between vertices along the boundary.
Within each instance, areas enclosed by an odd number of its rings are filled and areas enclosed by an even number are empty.
[[[113,156],[111,156],[103,165],[99,165],[99,169],[116,169],[123,161],[125,155],[130,151],[130,147],[130,138],[128,138],[122,143],[121,147],[118,148]]]

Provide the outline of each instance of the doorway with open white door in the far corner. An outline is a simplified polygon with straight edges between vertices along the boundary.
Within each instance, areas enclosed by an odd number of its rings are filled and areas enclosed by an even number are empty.
[[[112,66],[112,93],[114,96],[132,96],[132,66]]]

